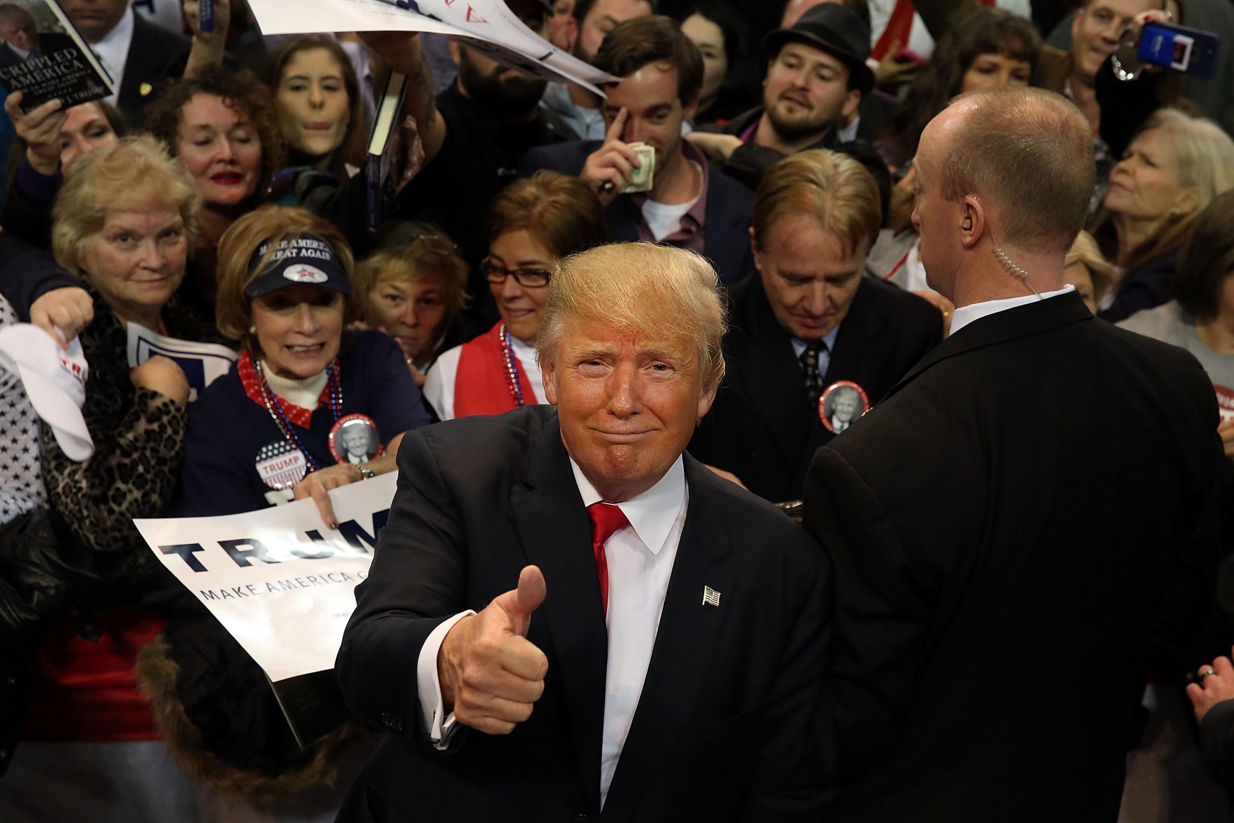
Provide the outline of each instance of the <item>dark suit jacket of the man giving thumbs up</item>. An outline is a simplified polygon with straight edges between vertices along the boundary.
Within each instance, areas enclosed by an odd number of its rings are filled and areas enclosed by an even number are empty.
[[[829,575],[789,518],[686,458],[689,510],[638,711],[600,814],[606,642],[590,523],[557,410],[408,432],[399,491],[343,637],[338,677],[391,730],[339,821],[818,821]],[[537,564],[527,639],[548,655],[536,711],[506,737],[426,738],[416,663],[429,632]],[[721,592],[702,605],[702,589]],[[576,817],[582,816],[582,817]]]

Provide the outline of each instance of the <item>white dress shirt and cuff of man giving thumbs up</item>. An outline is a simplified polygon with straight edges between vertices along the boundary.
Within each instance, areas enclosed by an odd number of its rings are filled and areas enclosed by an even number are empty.
[[[582,505],[600,502],[602,497],[571,459],[574,481]],[[642,495],[617,503],[629,526],[613,532],[605,543],[608,563],[608,664],[605,675],[603,739],[600,748],[600,803],[608,796],[608,786],[617,771],[629,724],[643,692],[647,666],[652,661],[660,612],[669,590],[673,563],[686,521],[689,503],[685,464],[679,457],[659,482]],[[586,550],[580,547],[580,550]],[[552,597],[552,590],[548,592]],[[437,653],[453,626],[475,612],[455,614],[443,622],[421,647],[416,663],[416,682],[424,726],[434,740],[454,723],[454,714],[442,717],[444,706],[437,679]],[[534,618],[533,618],[534,619]]]

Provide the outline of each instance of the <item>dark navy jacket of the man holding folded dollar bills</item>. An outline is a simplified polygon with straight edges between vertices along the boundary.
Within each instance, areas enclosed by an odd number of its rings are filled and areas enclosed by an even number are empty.
[[[602,141],[571,141],[555,146],[538,146],[523,155],[520,176],[531,176],[539,169],[552,169],[578,176],[587,157]],[[711,165],[707,172],[707,216],[703,221],[703,255],[716,267],[723,283],[737,283],[754,268],[750,254],[750,212],[754,195],[744,185]],[[643,215],[631,197],[618,196],[605,209],[608,239],[637,241]]]

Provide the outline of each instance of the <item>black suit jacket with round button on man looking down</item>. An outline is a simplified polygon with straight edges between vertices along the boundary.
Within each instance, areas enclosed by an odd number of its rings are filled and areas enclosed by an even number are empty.
[[[690,454],[735,474],[774,502],[801,498],[810,458],[834,434],[805,400],[792,338],[771,313],[758,271],[732,290],[724,383]],[[943,338],[943,317],[917,295],[866,278],[858,286],[823,378],[853,380],[877,402]]]

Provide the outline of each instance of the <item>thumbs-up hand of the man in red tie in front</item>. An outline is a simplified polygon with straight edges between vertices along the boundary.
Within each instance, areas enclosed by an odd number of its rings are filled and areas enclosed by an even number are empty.
[[[510,734],[544,693],[548,658],[527,639],[532,612],[544,602],[544,575],[526,566],[518,587],[445,634],[437,674],[447,711],[485,734]]]

